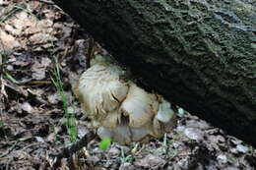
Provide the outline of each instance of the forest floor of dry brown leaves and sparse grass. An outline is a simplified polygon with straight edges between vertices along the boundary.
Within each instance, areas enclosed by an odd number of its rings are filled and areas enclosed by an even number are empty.
[[[90,131],[73,94],[89,41],[51,1],[0,0],[0,170],[53,169],[52,153]],[[98,143],[72,156],[74,169],[256,169],[252,146],[187,112],[160,140],[106,150]],[[69,166],[63,158],[58,169]]]

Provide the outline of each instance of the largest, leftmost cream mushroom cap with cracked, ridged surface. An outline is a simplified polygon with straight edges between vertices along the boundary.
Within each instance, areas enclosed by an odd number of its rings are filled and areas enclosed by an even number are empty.
[[[119,79],[121,75],[122,70],[118,66],[99,63],[81,76],[75,89],[86,113],[92,119],[108,124],[108,127],[116,126],[120,117],[117,115],[119,106],[128,92],[127,83]],[[110,122],[105,122],[105,119]]]

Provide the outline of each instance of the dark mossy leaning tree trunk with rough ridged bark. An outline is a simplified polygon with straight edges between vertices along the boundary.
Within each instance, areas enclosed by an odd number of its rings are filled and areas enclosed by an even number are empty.
[[[249,0],[54,0],[145,85],[256,145]]]

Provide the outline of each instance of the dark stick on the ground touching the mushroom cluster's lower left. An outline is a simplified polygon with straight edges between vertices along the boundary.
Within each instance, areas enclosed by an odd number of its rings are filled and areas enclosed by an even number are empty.
[[[53,166],[59,165],[62,158],[71,157],[73,153],[77,152],[84,146],[87,146],[88,143],[92,142],[95,138],[96,138],[96,134],[94,132],[89,132],[80,141],[64,147],[63,150],[56,155],[56,162],[54,163]]]

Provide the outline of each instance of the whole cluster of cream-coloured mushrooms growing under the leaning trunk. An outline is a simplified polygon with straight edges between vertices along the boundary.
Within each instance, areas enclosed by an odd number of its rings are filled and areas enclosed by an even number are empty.
[[[148,142],[160,138],[176,124],[171,104],[131,80],[111,57],[96,55],[75,93],[101,139],[114,142]]]

